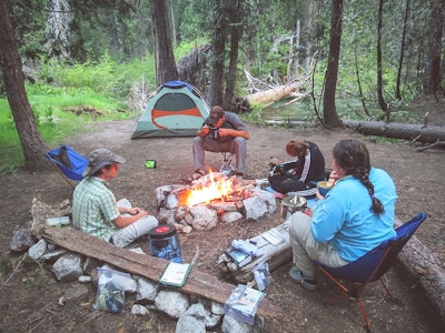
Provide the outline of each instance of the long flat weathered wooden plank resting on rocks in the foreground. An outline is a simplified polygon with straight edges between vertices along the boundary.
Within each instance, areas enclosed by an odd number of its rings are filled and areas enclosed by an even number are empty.
[[[169,263],[168,260],[161,258],[115,246],[71,226],[41,225],[39,234],[50,243],[85,256],[98,259],[126,272],[145,276],[155,282],[158,281]],[[234,287],[234,285],[219,281],[214,275],[192,269],[186,284],[177,290],[225,304]],[[256,314],[273,319],[283,319],[285,316],[285,312],[268,299],[261,301]]]

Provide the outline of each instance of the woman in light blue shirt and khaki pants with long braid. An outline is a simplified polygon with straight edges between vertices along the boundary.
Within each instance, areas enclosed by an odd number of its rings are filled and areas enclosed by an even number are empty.
[[[333,150],[335,185],[326,198],[317,191],[312,216],[291,215],[289,276],[317,289],[314,261],[339,268],[395,236],[397,192],[388,173],[370,167],[369,152],[358,140],[343,140]]]

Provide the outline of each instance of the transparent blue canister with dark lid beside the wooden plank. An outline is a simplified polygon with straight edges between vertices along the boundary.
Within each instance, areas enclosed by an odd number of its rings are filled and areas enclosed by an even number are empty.
[[[156,226],[149,231],[148,238],[152,256],[182,262],[179,239],[174,225]]]

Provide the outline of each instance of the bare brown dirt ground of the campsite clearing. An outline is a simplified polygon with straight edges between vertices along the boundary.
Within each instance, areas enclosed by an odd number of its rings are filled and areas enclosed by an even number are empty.
[[[433,103],[431,110],[437,117],[432,124],[445,125],[444,103],[441,107]],[[191,139],[130,140],[135,123],[136,120],[100,122],[93,124],[93,131],[61,143],[68,143],[83,154],[105,147],[126,157],[128,162],[110,182],[112,191],[118,199],[128,198],[134,205],[156,214],[155,189],[184,183],[192,171]],[[441,203],[445,150],[416,152],[409,143],[376,143],[347,130],[275,129],[254,124],[248,124],[248,128],[247,179],[266,178],[270,158],[286,160],[284,147],[294,138],[316,142],[327,165],[330,165],[330,150],[335,142],[346,138],[365,140],[372,163],[387,170],[397,185],[397,216],[406,221],[417,212],[426,212],[428,218],[416,236],[445,263],[445,209]],[[157,160],[158,168],[146,169],[146,159]],[[208,153],[207,162],[215,169],[219,168],[221,157]],[[131,315],[131,296],[127,299],[123,314],[97,312],[91,306],[96,296],[92,285],[58,282],[50,265],[37,264],[23,253],[9,251],[12,232],[31,220],[33,198],[55,204],[70,199],[72,189],[57,172],[0,174],[0,332],[118,332],[119,329],[123,330],[119,332],[175,332],[176,321],[161,313],[150,311],[147,316]],[[220,276],[216,261],[233,239],[256,235],[281,222],[277,211],[256,222],[219,224],[211,231],[180,234],[182,259],[191,261],[199,246],[200,255],[195,269]],[[148,242],[140,245],[149,253]],[[339,295],[340,291],[324,276],[319,276],[317,291],[304,290],[289,280],[289,268],[290,263],[287,263],[274,271],[275,283],[266,290],[267,297],[286,311],[286,320],[266,320],[264,332],[365,332],[355,300],[327,306],[325,301]],[[404,268],[394,266],[386,279],[396,297],[395,303],[384,296],[378,283],[365,293],[365,306],[374,332],[444,332],[444,323]],[[76,296],[82,287],[88,291]],[[70,292],[70,297],[67,292]],[[66,302],[59,304],[62,296]],[[209,332],[220,332],[220,327]]]

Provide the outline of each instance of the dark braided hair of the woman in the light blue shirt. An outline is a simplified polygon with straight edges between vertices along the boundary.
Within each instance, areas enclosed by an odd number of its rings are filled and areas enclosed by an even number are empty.
[[[334,147],[334,159],[346,174],[358,179],[368,190],[373,205],[370,210],[375,214],[382,214],[385,209],[382,201],[374,195],[374,185],[369,181],[369,152],[366,145],[358,140],[342,140]]]

